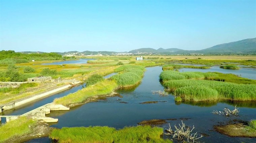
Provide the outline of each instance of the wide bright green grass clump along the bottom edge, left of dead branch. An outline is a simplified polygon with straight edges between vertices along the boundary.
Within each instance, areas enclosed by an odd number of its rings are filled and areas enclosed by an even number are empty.
[[[83,143],[171,143],[163,140],[160,136],[163,129],[151,126],[125,127],[120,130],[110,127],[73,127],[54,129],[50,138],[60,143],[83,142]]]

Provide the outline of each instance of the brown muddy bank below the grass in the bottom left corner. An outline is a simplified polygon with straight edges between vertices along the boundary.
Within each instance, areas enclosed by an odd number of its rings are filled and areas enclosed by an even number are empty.
[[[22,142],[26,142],[26,141],[36,139],[36,138],[48,137],[49,134],[54,129],[53,127],[50,127],[48,124],[44,124],[41,122],[38,122],[35,127],[31,127],[31,128],[33,128],[32,133],[29,133],[29,134],[26,134],[23,136],[10,138],[10,139],[6,140],[6,143],[11,143],[11,142],[22,143]]]

